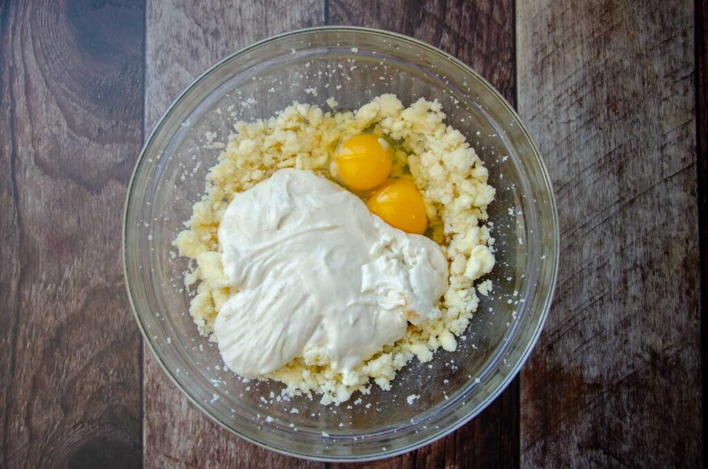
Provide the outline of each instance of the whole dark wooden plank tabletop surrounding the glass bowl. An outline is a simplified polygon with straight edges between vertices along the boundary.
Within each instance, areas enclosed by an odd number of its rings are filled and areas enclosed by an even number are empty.
[[[323,466],[227,433],[169,382],[130,312],[120,225],[144,137],[190,81],[326,24],[404,33],[479,71],[535,137],[559,206],[556,297],[519,377],[454,434],[372,467],[703,465],[707,13],[0,0],[0,468]]]

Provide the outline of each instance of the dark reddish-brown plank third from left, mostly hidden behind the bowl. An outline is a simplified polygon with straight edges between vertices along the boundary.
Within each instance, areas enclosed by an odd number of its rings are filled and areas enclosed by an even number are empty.
[[[440,47],[476,69],[515,103],[510,0],[329,0],[328,13],[328,24],[392,30]],[[519,386],[514,380],[482,414],[454,434],[409,455],[384,460],[380,467],[515,467],[518,425]]]

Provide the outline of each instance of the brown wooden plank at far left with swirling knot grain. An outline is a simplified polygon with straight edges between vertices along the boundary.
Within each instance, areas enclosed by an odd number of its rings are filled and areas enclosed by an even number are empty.
[[[0,2],[0,467],[137,467],[121,213],[142,1]]]

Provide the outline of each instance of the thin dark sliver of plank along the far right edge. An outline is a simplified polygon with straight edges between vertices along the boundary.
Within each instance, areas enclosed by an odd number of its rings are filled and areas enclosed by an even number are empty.
[[[708,426],[708,2],[696,1],[696,113],[698,222],[701,253],[701,358],[703,435]],[[702,110],[702,111],[701,111]],[[703,448],[703,464],[708,460]]]

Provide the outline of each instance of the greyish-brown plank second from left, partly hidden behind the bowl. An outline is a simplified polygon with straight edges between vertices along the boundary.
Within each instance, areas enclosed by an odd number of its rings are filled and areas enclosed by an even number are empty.
[[[193,79],[256,40],[324,22],[321,0],[147,1],[145,130]],[[144,354],[146,467],[321,467],[280,456],[222,429]]]

